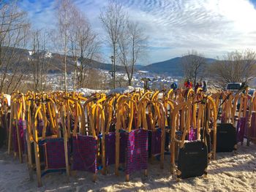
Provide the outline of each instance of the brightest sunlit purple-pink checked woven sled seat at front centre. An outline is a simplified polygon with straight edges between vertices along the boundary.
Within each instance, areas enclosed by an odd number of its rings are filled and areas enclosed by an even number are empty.
[[[128,134],[126,174],[148,169],[148,131],[132,130]]]

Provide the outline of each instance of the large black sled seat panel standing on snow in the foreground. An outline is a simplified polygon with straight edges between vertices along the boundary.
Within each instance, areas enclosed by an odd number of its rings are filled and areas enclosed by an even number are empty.
[[[197,140],[185,142],[178,153],[177,177],[186,179],[207,174],[208,150],[204,142]]]

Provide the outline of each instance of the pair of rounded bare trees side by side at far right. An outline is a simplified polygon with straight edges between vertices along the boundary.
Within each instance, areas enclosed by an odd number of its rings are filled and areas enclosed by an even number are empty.
[[[228,82],[245,82],[248,84],[256,77],[256,52],[246,49],[233,51],[217,57],[210,64],[203,53],[188,51],[181,61],[184,77],[193,85],[202,80],[226,88]]]

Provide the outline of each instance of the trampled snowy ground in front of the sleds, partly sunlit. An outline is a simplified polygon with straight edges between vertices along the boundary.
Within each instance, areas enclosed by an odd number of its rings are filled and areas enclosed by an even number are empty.
[[[77,172],[69,178],[65,174],[48,174],[42,177],[42,188],[37,188],[36,175],[29,181],[26,164],[20,164],[6,149],[0,150],[0,191],[256,191],[256,145],[238,146],[238,154],[218,153],[217,161],[208,166],[208,177],[197,177],[176,182],[170,174],[170,156],[165,156],[165,169],[159,169],[154,160],[148,167],[148,177],[142,172],[130,175],[130,182],[124,182],[125,174],[119,177],[110,166],[110,174],[97,174],[96,183],[91,174]]]

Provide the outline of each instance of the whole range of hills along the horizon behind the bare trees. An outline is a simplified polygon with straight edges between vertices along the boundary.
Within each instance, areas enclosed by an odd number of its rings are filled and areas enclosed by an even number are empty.
[[[34,65],[32,62],[33,58],[39,57],[41,60],[40,62],[44,62],[45,64],[48,64],[47,70],[48,73],[62,73],[64,71],[64,55],[60,55],[58,53],[50,53],[50,52],[39,52],[38,53],[33,53],[31,50],[26,50],[26,49],[20,49],[20,48],[13,48],[13,47],[2,47],[2,49],[7,53],[7,56],[5,58],[8,58],[8,55],[15,55],[15,57],[12,59],[11,63],[12,66],[19,67],[19,69],[22,70],[22,72],[32,72],[34,69]],[[189,57],[189,55],[184,56],[184,57]],[[162,62],[157,62],[154,64],[150,64],[148,66],[143,66],[140,64],[135,65],[135,70],[141,70],[141,71],[148,71],[151,73],[156,73],[156,74],[167,74],[171,76],[182,76],[183,75],[183,70],[182,70],[182,59],[184,57],[177,57],[177,58],[172,58],[167,61],[162,61]],[[8,60],[8,59],[7,59]],[[6,61],[7,61],[6,60]],[[206,58],[206,62],[208,64],[213,63],[216,61],[213,58]],[[101,69],[101,70],[106,70],[110,71],[112,70],[112,65],[111,64],[105,64],[101,63],[99,61],[85,61],[87,62],[89,68],[91,69]],[[72,60],[71,56],[67,56],[67,73],[73,72],[74,71],[74,62]],[[12,70],[10,68],[10,70]],[[0,71],[3,69],[0,69]],[[116,72],[124,72],[124,66],[118,66],[116,65]]]

